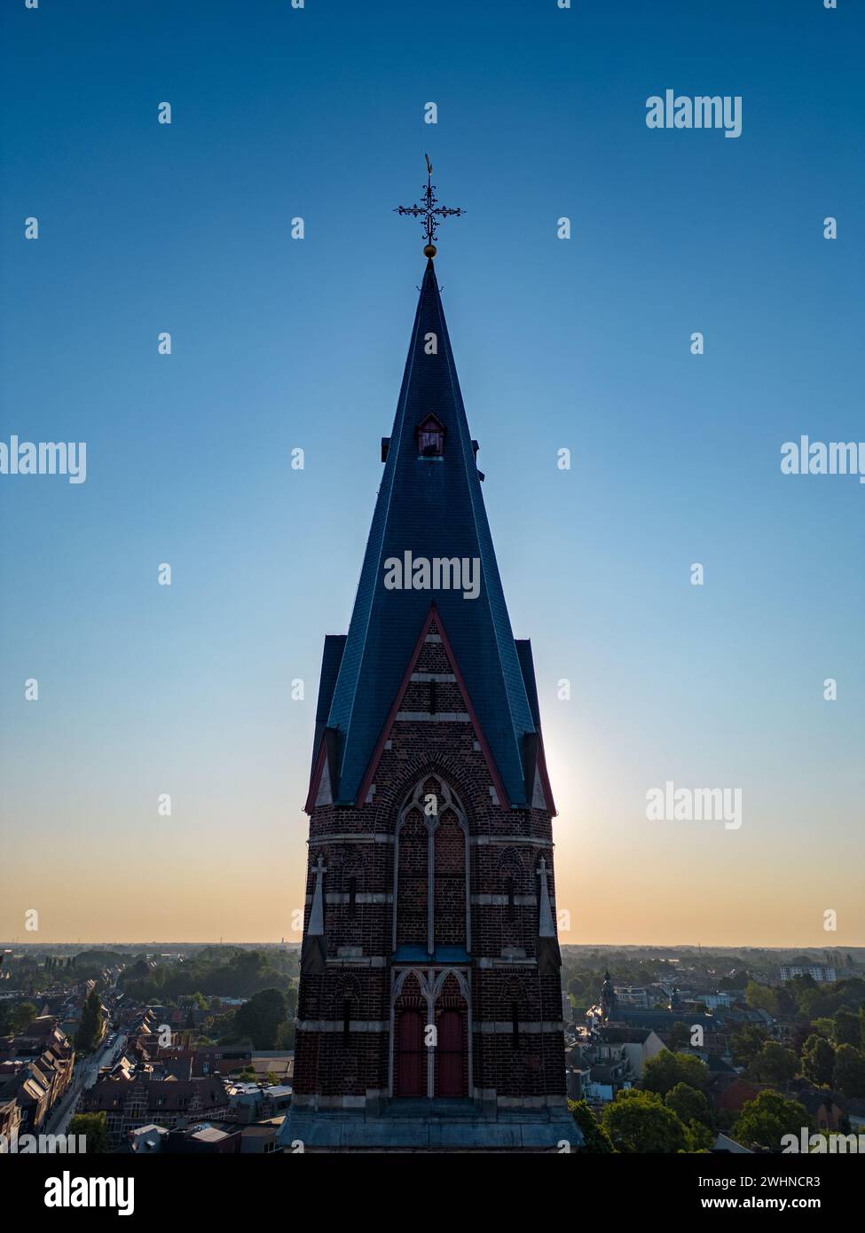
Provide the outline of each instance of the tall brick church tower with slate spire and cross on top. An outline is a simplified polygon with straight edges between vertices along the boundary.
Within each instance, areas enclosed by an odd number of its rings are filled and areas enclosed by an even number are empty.
[[[434,223],[349,630],[325,639],[280,1142],[554,1152],[580,1143],[565,1094],[555,809],[433,238]]]

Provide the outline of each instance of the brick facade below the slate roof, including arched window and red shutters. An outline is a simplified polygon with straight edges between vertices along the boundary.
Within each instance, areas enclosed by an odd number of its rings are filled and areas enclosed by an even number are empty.
[[[434,610],[426,633],[442,633]],[[438,640],[411,666],[413,677],[453,677],[448,710],[466,711],[455,667]],[[417,710],[424,686],[411,679],[399,711]],[[396,719],[371,801],[313,809],[307,921],[322,857],[327,965],[301,979],[297,1104],[442,1091],[507,1108],[564,1099],[561,986],[537,963],[536,870],[542,857],[552,869],[550,815],[494,803],[481,736],[471,723]]]

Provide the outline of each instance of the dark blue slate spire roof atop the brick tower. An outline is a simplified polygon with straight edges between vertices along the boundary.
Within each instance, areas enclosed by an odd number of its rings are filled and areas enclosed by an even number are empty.
[[[417,429],[429,416],[444,429],[443,457],[418,455]],[[524,758],[533,763],[538,741],[529,702],[534,681],[527,683],[523,677],[526,662],[531,671],[531,656],[526,660],[518,653],[511,631],[431,260],[394,428],[383,446],[384,476],[349,631],[344,640],[326,640],[315,753],[325,739],[331,783],[336,779],[334,800],[359,804],[358,789],[434,602],[510,804],[531,804]],[[385,562],[402,561],[406,552],[415,561],[459,557],[479,562],[474,566],[480,576],[478,598],[464,598],[463,589],[385,588]],[[533,774],[532,764],[532,779]]]

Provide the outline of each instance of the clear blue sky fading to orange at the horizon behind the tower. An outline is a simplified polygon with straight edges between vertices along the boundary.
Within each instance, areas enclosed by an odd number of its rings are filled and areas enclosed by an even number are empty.
[[[780,473],[865,436],[864,31],[851,0],[4,6],[0,438],[85,440],[88,478],[0,476],[0,936],[296,936],[428,152],[563,941],[865,944],[865,487]],[[666,88],[742,95],[742,136],[647,128]],[[648,822],[666,779],[740,787],[742,829]]]

